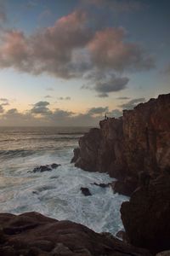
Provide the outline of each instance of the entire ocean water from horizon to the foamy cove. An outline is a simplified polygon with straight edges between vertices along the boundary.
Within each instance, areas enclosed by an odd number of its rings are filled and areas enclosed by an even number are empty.
[[[109,183],[106,173],[84,172],[71,164],[73,148],[88,128],[1,127],[0,212],[37,211],[56,219],[85,224],[97,232],[122,230],[120,207],[126,196],[92,183]],[[31,171],[60,164],[52,172]],[[91,196],[84,196],[88,187]]]

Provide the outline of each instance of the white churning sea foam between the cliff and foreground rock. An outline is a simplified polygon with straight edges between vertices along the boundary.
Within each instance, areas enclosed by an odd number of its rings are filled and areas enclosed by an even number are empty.
[[[54,136],[54,135],[53,135]],[[62,135],[63,137],[63,135]],[[68,137],[68,135],[67,135]],[[70,164],[72,149],[77,146],[68,140],[58,147],[40,150],[34,154],[5,158],[0,167],[0,212],[37,211],[52,218],[70,219],[87,225],[97,232],[116,234],[122,230],[120,206],[127,197],[113,194],[111,188],[100,188],[92,183],[109,183],[113,179],[105,173],[84,172]],[[30,150],[26,146],[26,150]],[[52,172],[31,173],[35,166],[61,164]],[[80,190],[87,187],[91,196]]]

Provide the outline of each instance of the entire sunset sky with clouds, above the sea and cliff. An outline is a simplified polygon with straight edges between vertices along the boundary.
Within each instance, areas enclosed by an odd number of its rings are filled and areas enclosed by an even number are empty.
[[[169,0],[0,0],[0,126],[93,126],[170,92]]]

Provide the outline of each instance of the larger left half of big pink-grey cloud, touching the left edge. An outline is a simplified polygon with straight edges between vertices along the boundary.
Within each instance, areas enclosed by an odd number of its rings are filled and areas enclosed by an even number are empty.
[[[75,11],[30,37],[20,31],[6,32],[0,47],[0,66],[65,79],[77,76],[71,57],[74,49],[83,48],[92,37],[86,20],[85,13]]]

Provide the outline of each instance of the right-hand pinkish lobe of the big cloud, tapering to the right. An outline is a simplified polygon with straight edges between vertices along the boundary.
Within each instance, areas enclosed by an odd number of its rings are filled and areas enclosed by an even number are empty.
[[[122,28],[105,28],[96,32],[88,44],[91,59],[100,69],[111,68],[116,72],[148,70],[154,61],[145,54],[139,44],[124,42],[126,32]]]

